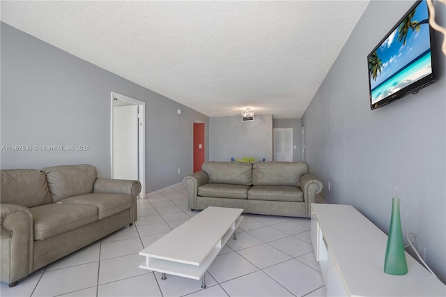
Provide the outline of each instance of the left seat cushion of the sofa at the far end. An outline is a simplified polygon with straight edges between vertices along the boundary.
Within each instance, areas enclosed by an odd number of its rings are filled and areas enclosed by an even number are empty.
[[[225,183],[206,183],[198,188],[202,197],[247,199],[249,186],[229,185]]]

